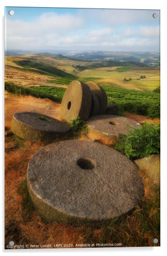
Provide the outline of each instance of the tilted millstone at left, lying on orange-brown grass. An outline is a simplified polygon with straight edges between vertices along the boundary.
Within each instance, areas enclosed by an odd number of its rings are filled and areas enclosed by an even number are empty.
[[[17,112],[12,118],[11,130],[22,139],[36,142],[50,140],[69,130],[66,123],[40,113]]]

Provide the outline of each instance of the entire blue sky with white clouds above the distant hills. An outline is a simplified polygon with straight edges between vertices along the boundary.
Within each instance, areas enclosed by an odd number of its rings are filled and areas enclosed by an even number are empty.
[[[5,13],[6,50],[160,52],[160,10],[6,7]]]

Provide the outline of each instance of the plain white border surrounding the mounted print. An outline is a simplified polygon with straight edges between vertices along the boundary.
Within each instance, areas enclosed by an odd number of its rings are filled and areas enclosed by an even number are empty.
[[[167,133],[167,124],[165,117],[167,107],[166,107],[166,98],[167,98],[167,37],[166,37],[166,28],[167,28],[167,8],[166,1],[164,0],[117,0],[117,1],[109,1],[103,0],[98,2],[97,0],[90,1],[76,1],[76,0],[61,0],[61,1],[54,1],[54,0],[47,0],[45,1],[37,1],[37,0],[1,0],[0,1],[0,18],[1,18],[1,61],[0,61],[0,72],[1,72],[1,87],[0,87],[0,116],[1,116],[1,147],[0,147],[0,155],[1,155],[1,173],[4,172],[4,145],[3,145],[3,134],[4,134],[4,94],[3,94],[3,87],[4,87],[4,7],[5,6],[29,6],[29,7],[80,7],[80,8],[113,8],[113,9],[152,9],[152,10],[161,10],[161,247],[129,247],[129,248],[103,248],[103,249],[39,249],[39,250],[3,250],[4,248],[4,175],[1,174],[1,233],[0,233],[0,248],[2,252],[10,254],[10,253],[56,253],[56,254],[92,254],[96,253],[97,255],[105,253],[106,255],[111,255],[116,253],[118,256],[122,253],[124,255],[141,255],[141,254],[161,254],[165,253],[166,248],[166,240],[167,240],[167,221],[166,221],[166,212],[167,212],[167,202],[166,202],[166,192],[165,189],[167,187],[167,168],[165,168],[165,157],[166,157],[166,133]]]

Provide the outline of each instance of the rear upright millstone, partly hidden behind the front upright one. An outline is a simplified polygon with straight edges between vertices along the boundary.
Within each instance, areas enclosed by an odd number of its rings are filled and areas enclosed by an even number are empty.
[[[104,114],[106,112],[106,107],[107,107],[106,92],[103,90],[101,86],[98,86],[93,82],[86,82],[86,84],[91,89],[91,92],[95,93],[98,96],[98,99],[100,101],[100,114]]]

